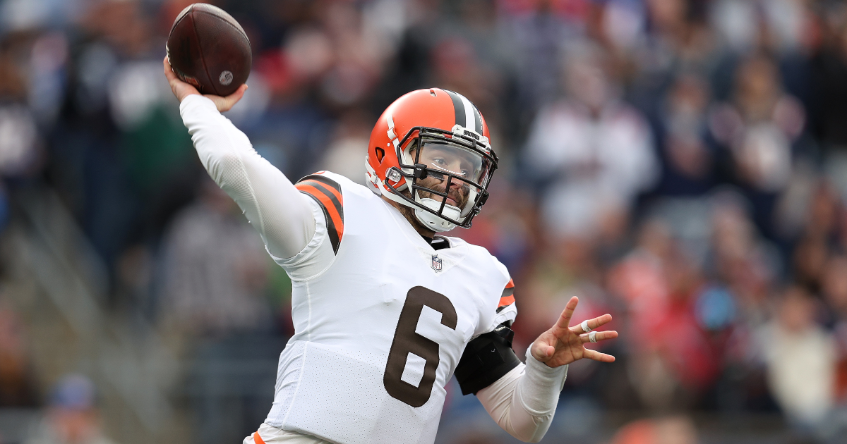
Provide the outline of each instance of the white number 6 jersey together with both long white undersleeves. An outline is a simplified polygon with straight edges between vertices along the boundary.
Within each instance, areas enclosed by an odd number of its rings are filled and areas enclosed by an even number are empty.
[[[180,114],[203,167],[268,253],[291,258],[276,260],[294,282],[296,336],[280,356],[266,441],[300,431],[298,442],[432,442],[454,370],[503,430],[545,435],[567,365],[510,359],[497,348],[508,346],[502,328],[476,339],[498,356],[479,344],[462,356],[469,338],[516,314],[512,282],[488,252],[455,238],[439,238],[433,245],[451,248],[436,251],[393,206],[335,174],[295,187],[207,97],[185,97]]]

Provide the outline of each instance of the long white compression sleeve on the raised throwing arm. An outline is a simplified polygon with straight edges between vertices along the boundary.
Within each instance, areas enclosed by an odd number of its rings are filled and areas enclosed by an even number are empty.
[[[241,207],[268,253],[279,258],[299,253],[315,231],[308,197],[259,156],[247,136],[207,97],[185,97],[180,115],[203,167]]]

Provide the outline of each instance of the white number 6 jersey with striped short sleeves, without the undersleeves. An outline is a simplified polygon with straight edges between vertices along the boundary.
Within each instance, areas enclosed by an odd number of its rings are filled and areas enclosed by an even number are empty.
[[[435,250],[400,211],[334,173],[303,179],[315,233],[289,259],[296,334],[266,423],[343,444],[432,443],[468,342],[513,321],[508,271],[459,238]]]

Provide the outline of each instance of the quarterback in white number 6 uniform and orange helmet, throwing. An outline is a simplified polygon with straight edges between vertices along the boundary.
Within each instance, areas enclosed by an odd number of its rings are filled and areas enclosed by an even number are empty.
[[[537,442],[551,425],[567,365],[612,362],[584,343],[602,315],[570,326],[578,299],[527,350],[506,267],[437,233],[470,227],[497,167],[467,98],[438,88],[401,96],[379,117],[367,186],[319,172],[296,184],[221,115],[241,99],[201,96],[164,60],[180,114],[209,175],[244,211],[291,277],[295,335],[280,354],[274,403],[245,444],[431,444],[456,375],[498,425]]]

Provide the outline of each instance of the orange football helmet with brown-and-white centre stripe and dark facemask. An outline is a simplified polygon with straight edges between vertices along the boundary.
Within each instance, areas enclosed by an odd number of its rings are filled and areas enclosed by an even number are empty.
[[[425,227],[444,232],[471,226],[488,199],[497,156],[479,109],[461,94],[431,88],[385,109],[365,167],[371,191],[412,207]]]

